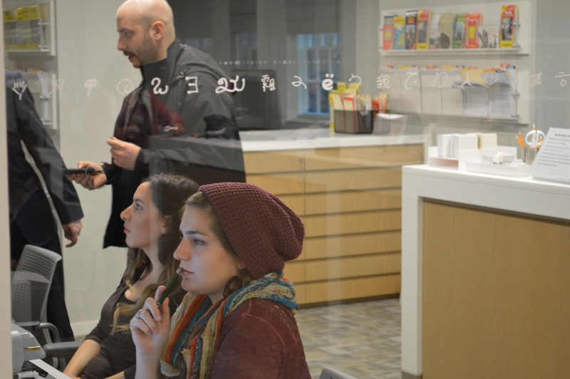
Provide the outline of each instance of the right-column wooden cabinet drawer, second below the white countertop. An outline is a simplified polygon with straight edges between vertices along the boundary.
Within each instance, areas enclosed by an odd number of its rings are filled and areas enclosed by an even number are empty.
[[[307,193],[396,187],[402,187],[401,167],[305,173]]]

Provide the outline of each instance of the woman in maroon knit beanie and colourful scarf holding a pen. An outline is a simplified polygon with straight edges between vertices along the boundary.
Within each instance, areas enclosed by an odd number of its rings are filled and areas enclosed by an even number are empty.
[[[299,216],[259,187],[217,183],[187,200],[180,231],[189,294],[171,321],[159,287],[130,321],[136,378],[311,378],[283,278],[303,247]]]

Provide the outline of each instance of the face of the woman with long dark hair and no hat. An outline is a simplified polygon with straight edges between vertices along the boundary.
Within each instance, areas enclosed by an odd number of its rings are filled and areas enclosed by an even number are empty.
[[[127,246],[149,253],[158,246],[165,228],[165,219],[150,199],[150,183],[141,183],[133,195],[133,204],[120,214],[125,225]]]

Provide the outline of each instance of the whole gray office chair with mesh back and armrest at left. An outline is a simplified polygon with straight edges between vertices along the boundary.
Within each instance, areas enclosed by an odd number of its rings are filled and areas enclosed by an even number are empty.
[[[61,255],[26,245],[11,281],[12,319],[16,325],[33,333],[48,358],[57,358],[63,370],[81,343],[61,342],[59,333],[47,322],[46,306],[51,279]],[[53,336],[53,340],[50,336]]]

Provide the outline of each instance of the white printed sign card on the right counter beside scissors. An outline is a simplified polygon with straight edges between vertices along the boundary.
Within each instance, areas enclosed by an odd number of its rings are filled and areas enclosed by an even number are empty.
[[[549,129],[529,174],[534,179],[570,182],[570,129]]]

